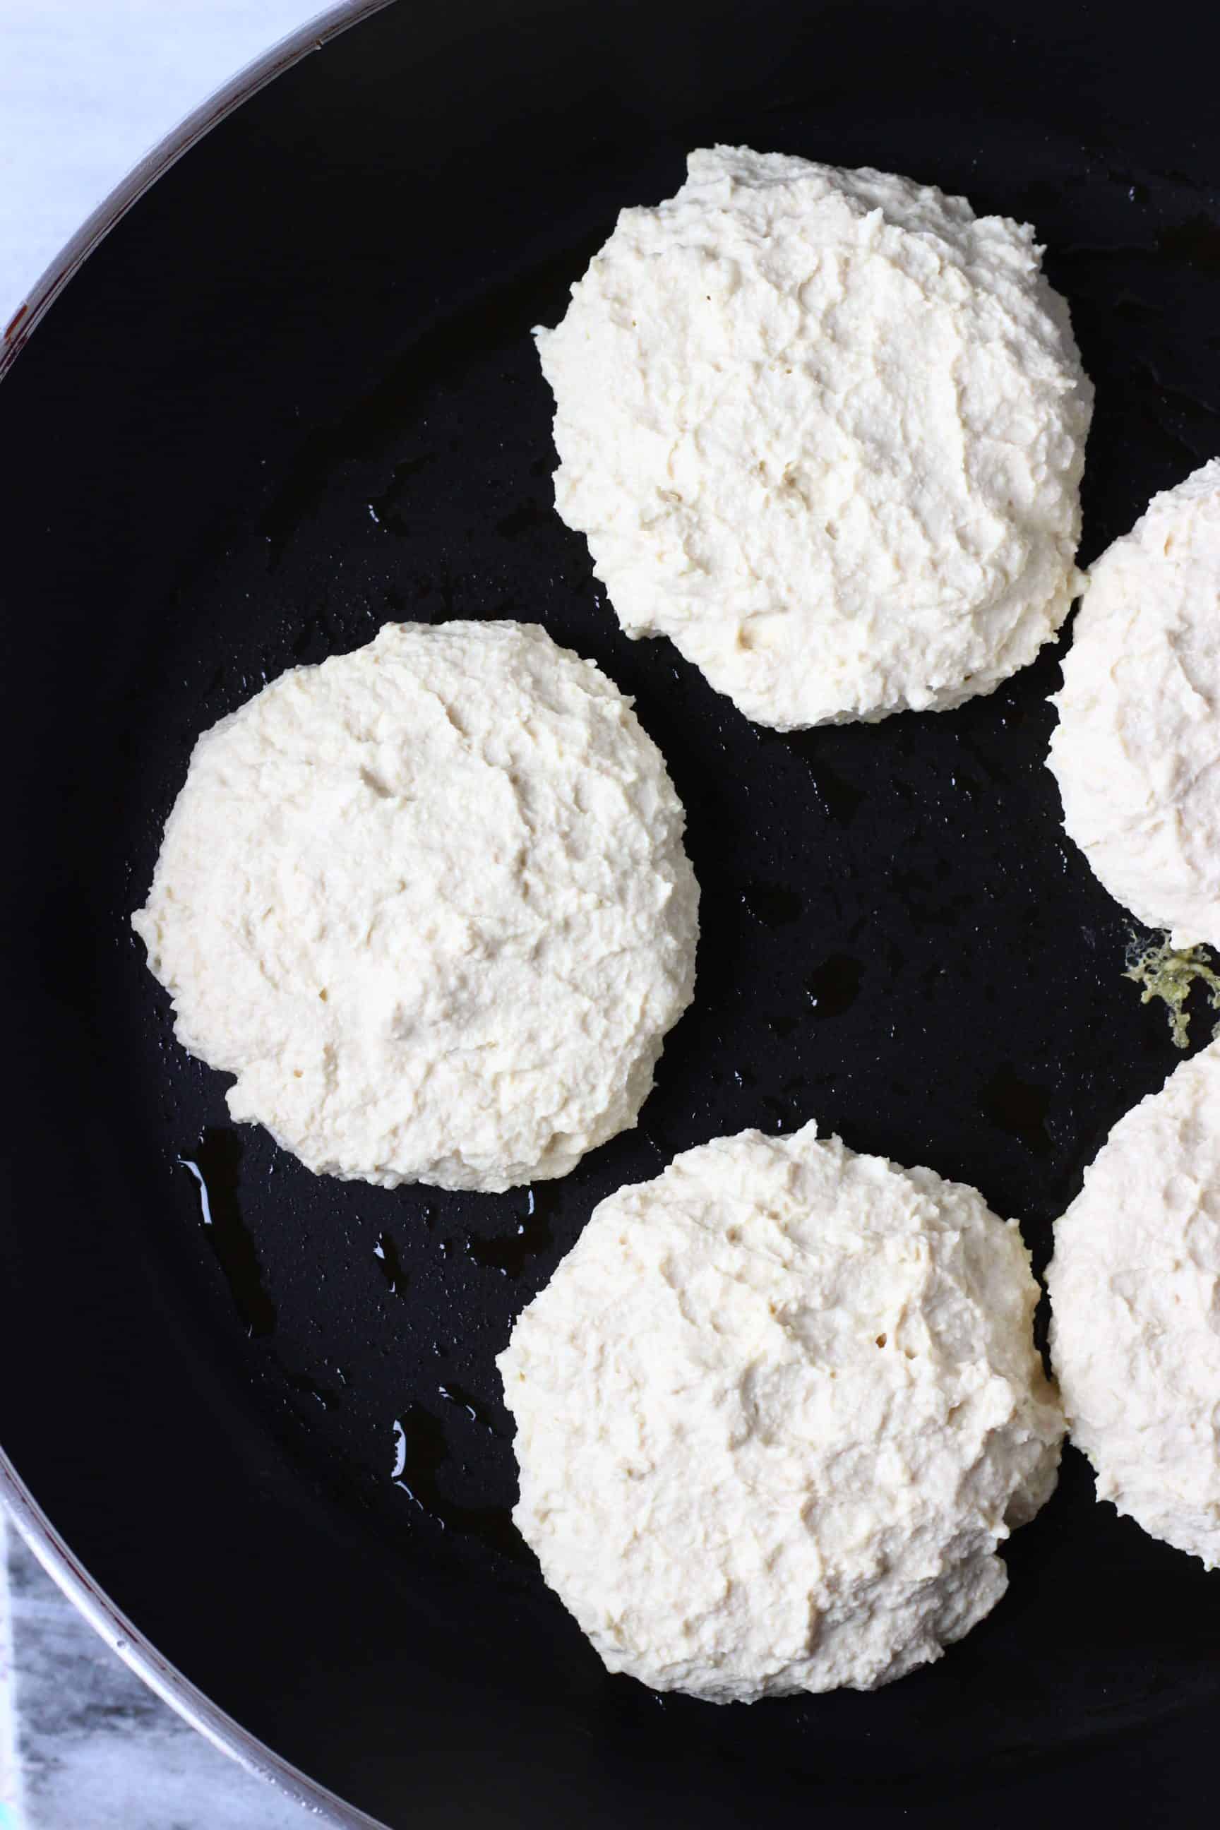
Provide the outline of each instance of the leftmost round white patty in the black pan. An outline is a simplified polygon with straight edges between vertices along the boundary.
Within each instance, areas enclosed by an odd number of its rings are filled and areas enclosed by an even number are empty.
[[[311,1169],[565,1175],[691,997],[682,805],[534,624],[388,624],[205,732],[134,917],[192,1054]]]

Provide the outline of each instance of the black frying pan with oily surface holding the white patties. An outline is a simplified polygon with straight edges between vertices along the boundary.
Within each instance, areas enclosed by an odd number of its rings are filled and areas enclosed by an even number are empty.
[[[1043,1263],[1174,1065],[1059,831],[1059,651],[953,714],[750,727],[618,635],[551,509],[529,328],[713,139],[1032,218],[1097,382],[1090,560],[1220,448],[1216,20],[404,0],[166,172],[5,379],[0,1440],[143,1669],[307,1792],[419,1830],[1160,1823],[1209,1770],[1220,1577],[1074,1453],[1004,1603],[891,1689],[715,1709],[605,1676],[508,1523],[492,1356],[602,1195],[744,1125],[975,1182]],[[205,725],[448,615],[541,619],[637,695],[702,882],[638,1131],[532,1210],[316,1180],[236,1131],[126,926]]]

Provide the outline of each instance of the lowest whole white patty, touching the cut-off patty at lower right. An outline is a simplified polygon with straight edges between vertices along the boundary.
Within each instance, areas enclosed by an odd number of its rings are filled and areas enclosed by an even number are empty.
[[[604,1200],[499,1358],[514,1519],[611,1671],[871,1689],[1002,1596],[1055,1482],[1015,1222],[816,1127]]]

